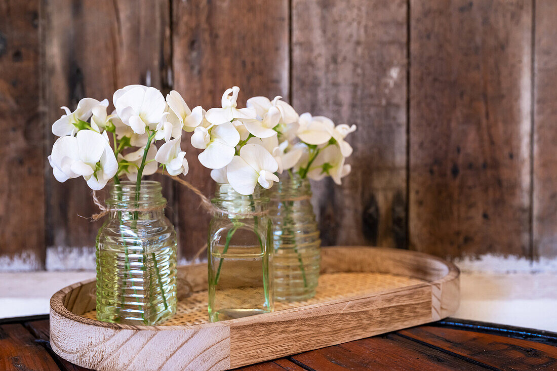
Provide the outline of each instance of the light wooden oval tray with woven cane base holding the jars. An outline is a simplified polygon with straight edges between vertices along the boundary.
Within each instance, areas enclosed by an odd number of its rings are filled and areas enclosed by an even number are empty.
[[[458,307],[460,272],[439,258],[371,247],[327,247],[321,256],[313,299],[218,323],[208,322],[206,264],[178,268],[193,292],[159,326],[95,320],[95,280],[79,282],[50,300],[52,349],[97,370],[223,370],[436,321]]]

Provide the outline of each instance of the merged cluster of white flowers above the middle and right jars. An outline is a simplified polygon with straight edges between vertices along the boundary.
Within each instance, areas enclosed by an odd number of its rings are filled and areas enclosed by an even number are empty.
[[[213,169],[211,177],[229,183],[240,194],[252,194],[259,184],[271,188],[285,170],[301,178],[321,180],[330,175],[336,184],[350,173],[345,159],[352,148],[344,139],[356,125],[336,125],[325,116],[298,115],[276,96],[247,100],[237,108],[237,86],[222,96],[222,108],[212,108],[194,129],[192,145],[204,149],[199,162]]]

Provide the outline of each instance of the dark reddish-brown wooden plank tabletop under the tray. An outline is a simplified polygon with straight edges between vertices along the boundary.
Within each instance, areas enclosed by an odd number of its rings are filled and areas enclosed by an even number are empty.
[[[47,315],[0,319],[0,370],[85,370],[48,340]],[[241,369],[557,370],[557,334],[446,319]]]

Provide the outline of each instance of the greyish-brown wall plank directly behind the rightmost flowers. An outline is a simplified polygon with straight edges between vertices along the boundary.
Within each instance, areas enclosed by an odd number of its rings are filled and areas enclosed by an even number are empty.
[[[292,103],[356,124],[351,174],[314,182],[323,245],[406,246],[407,2],[292,1]]]

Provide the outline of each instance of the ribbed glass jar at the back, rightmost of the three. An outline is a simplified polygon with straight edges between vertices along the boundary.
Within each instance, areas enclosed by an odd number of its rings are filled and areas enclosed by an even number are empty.
[[[321,257],[310,182],[283,174],[269,193],[275,299],[310,299],[315,295]]]

